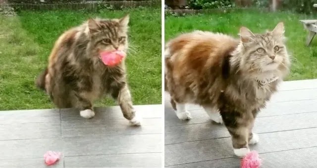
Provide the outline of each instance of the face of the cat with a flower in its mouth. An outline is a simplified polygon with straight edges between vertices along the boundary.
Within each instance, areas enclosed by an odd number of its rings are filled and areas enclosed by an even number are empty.
[[[128,15],[120,19],[88,20],[93,50],[97,53],[115,50],[126,51],[128,46],[128,23]]]

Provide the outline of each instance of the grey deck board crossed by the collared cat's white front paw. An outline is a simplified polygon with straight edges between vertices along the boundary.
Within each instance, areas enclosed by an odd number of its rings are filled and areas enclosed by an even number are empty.
[[[251,150],[279,152],[317,146],[317,128],[259,134],[260,142]],[[294,135],[299,138],[294,138]],[[309,155],[309,154],[307,154]],[[261,155],[260,155],[261,156]],[[235,157],[231,138],[165,145],[165,166]]]

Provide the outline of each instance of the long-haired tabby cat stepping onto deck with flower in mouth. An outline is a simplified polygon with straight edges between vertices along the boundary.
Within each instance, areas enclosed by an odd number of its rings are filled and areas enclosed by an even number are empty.
[[[120,19],[89,19],[64,32],[55,42],[47,68],[36,79],[57,108],[77,108],[84,118],[95,116],[93,102],[105,95],[117,100],[126,119],[141,124],[126,79],[124,59],[105,65],[101,52],[128,49],[129,15]]]

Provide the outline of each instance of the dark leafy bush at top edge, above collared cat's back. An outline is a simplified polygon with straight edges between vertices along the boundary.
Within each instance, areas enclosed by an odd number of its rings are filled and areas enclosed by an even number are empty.
[[[212,9],[233,7],[233,0],[189,0],[188,4],[193,9]]]

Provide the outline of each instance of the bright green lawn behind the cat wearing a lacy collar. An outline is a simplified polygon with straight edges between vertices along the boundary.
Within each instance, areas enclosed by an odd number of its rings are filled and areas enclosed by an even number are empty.
[[[301,19],[317,19],[290,12],[263,13],[255,10],[235,11],[225,14],[199,14],[185,17],[166,16],[165,41],[182,32],[204,30],[222,32],[238,37],[240,26],[246,26],[255,33],[272,30],[283,21],[287,47],[292,56],[291,74],[286,80],[317,78],[317,39],[311,47],[305,46],[307,31],[299,22]]]

